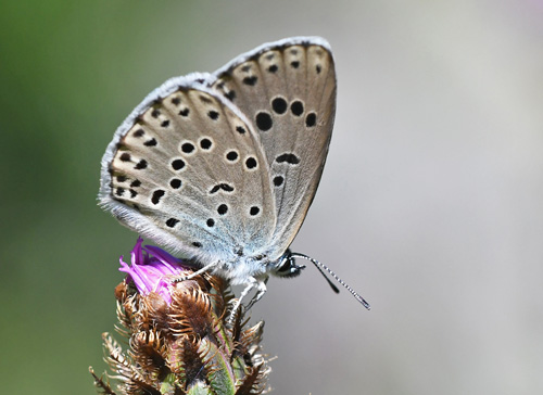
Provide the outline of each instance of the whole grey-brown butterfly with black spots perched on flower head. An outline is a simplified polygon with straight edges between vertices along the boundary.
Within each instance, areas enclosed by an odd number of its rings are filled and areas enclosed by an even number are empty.
[[[250,305],[260,300],[270,275],[300,275],[295,258],[305,258],[369,307],[325,265],[289,250],[325,166],[336,91],[319,37],[266,43],[213,74],[168,79],[115,131],[100,204],[197,263],[198,273],[244,284],[239,302],[253,289]]]

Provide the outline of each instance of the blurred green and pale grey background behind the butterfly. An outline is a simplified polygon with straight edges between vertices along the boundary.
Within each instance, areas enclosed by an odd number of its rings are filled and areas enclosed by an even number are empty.
[[[372,310],[272,279],[274,393],[543,393],[541,1],[5,1],[0,26],[2,393],[96,393],[137,238],[96,206],[125,116],[295,35],[330,41],[339,91],[292,247]]]

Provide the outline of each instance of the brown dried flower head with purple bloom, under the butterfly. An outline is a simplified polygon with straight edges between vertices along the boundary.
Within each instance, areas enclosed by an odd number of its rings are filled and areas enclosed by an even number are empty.
[[[117,328],[129,349],[104,333],[105,360],[113,374],[98,378],[104,394],[260,394],[269,372],[258,354],[264,323],[245,328],[239,311],[231,327],[228,285],[207,273],[173,283],[192,270],[165,251],[142,245],[127,278],[116,286]],[[118,382],[114,390],[108,379]]]

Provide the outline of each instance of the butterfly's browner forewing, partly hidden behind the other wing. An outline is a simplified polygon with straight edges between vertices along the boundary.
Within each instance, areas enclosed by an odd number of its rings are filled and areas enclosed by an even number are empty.
[[[260,135],[274,191],[277,225],[272,259],[288,249],[323,173],[336,114],[336,72],[328,43],[291,38],[233,60],[210,79]]]

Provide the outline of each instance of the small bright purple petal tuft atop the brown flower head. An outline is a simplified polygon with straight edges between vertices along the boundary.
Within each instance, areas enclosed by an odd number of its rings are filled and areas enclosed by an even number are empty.
[[[131,265],[127,265],[121,256],[119,271],[128,273],[139,293],[148,295],[151,292],[160,294],[169,305],[172,303],[172,289],[175,284],[172,279],[182,277],[186,270],[180,260],[169,255],[162,249],[153,245],[141,246],[143,239],[138,238],[131,255]]]

